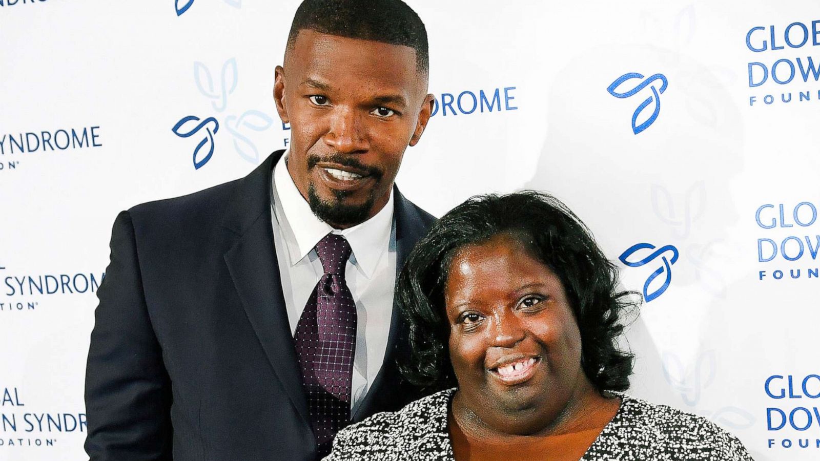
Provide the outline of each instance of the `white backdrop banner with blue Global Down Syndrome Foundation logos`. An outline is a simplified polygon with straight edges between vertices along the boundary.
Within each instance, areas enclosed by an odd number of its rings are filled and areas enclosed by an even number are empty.
[[[435,113],[398,184],[563,199],[645,296],[631,392],[820,459],[815,2],[408,0]],[[287,147],[297,0],[0,0],[0,459],[87,459],[116,214]]]

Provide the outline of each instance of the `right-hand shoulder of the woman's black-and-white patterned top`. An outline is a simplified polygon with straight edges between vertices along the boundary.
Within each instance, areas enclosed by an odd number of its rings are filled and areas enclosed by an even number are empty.
[[[621,398],[621,409],[599,437],[604,448],[622,446],[664,459],[752,459],[736,436],[706,418],[631,395]]]

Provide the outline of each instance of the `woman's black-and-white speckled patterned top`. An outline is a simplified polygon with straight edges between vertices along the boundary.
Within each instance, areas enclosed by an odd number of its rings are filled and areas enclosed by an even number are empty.
[[[442,390],[345,428],[324,461],[453,461],[447,416],[454,394]],[[621,397],[621,409],[581,461],[753,461],[740,440],[705,418]]]

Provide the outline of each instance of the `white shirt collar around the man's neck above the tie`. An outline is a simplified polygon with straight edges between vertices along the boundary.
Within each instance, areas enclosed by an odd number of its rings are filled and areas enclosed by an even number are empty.
[[[376,271],[381,256],[388,249],[393,226],[393,191],[376,216],[348,229],[334,229],[321,221],[310,209],[310,205],[299,193],[290,177],[285,161],[290,151],[285,151],[273,170],[273,198],[276,221],[285,233],[285,242],[290,255],[290,265],[294,266],[307,256],[325,235],[344,235],[353,250],[355,263],[364,275],[370,278]]]

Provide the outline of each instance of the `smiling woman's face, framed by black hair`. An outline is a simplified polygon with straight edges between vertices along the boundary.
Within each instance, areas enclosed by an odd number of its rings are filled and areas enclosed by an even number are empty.
[[[581,333],[563,284],[511,235],[458,250],[444,302],[464,406],[497,431],[532,434],[581,390]]]

